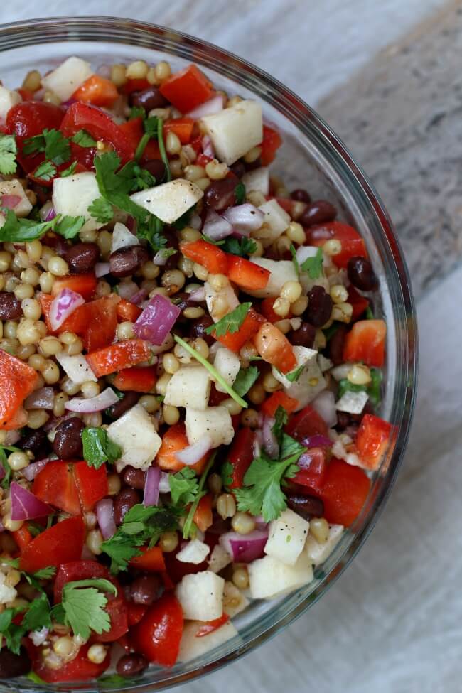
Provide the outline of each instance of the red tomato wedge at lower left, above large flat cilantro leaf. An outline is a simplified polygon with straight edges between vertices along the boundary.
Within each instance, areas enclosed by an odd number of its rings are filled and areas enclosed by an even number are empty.
[[[41,532],[23,549],[19,566],[28,573],[80,559],[85,540],[82,517],[69,517]]]

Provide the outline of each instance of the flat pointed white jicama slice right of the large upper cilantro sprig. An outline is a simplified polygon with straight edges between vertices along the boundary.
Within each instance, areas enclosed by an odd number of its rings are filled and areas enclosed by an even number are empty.
[[[184,178],[176,178],[175,181],[162,183],[155,188],[140,190],[130,197],[137,205],[156,215],[161,221],[173,224],[203,198],[203,195],[203,191],[195,183],[185,181]]]

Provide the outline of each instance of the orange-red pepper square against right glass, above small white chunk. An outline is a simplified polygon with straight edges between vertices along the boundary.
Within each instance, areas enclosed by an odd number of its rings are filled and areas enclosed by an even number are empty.
[[[360,320],[346,335],[344,361],[363,361],[368,366],[382,367],[385,361],[387,325],[383,320]]]

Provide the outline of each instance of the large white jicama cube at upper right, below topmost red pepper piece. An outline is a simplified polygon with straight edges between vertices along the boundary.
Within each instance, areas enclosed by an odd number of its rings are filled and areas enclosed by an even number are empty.
[[[262,107],[256,101],[235,106],[200,119],[220,161],[230,166],[263,139]]]

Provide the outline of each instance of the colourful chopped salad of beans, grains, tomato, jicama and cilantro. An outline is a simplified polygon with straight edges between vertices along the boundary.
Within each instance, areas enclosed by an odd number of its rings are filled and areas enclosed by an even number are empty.
[[[379,282],[281,144],[196,65],[0,85],[0,677],[189,660],[365,507]]]

